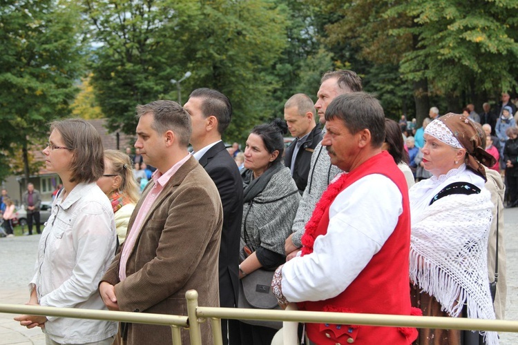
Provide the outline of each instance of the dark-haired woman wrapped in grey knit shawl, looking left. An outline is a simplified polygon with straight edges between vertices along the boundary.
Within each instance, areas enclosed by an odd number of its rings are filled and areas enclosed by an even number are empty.
[[[281,163],[285,133],[286,123],[276,119],[254,127],[247,139],[241,173],[241,239],[249,255],[239,266],[240,279],[258,268],[273,271],[286,259],[284,244],[291,233],[300,194],[289,168]],[[240,322],[240,344],[269,345],[276,332],[274,328]]]

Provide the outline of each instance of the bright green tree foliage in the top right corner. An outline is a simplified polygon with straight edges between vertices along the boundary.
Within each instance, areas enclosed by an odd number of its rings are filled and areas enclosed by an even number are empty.
[[[448,97],[515,87],[518,21],[510,14],[517,8],[514,0],[412,0],[390,8],[389,20],[401,14],[413,19],[412,26],[392,30],[395,37],[416,37],[401,60],[402,74],[410,81],[426,79],[432,92]]]

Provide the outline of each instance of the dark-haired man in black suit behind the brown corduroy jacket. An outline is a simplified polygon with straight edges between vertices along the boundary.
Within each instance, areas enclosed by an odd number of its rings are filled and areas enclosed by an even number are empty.
[[[239,243],[243,214],[243,187],[238,166],[227,152],[221,136],[230,124],[232,106],[221,92],[198,88],[189,96],[184,109],[191,115],[193,156],[200,161],[220,193],[223,205],[223,230],[220,247],[220,305],[238,304]],[[221,320],[223,344],[227,342],[227,324],[232,344],[233,322]]]

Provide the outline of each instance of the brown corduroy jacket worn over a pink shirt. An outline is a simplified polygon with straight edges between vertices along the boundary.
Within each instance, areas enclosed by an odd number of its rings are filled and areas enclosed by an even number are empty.
[[[128,224],[128,233],[148,193],[150,181]],[[171,177],[144,217],[142,230],[119,281],[121,250],[102,281],[115,285],[121,311],[187,315],[185,293],[198,291],[200,306],[219,306],[218,253],[223,212],[220,195],[207,172],[190,157]],[[127,238],[127,237],[126,237]],[[212,344],[210,322],[200,325],[204,344]],[[128,345],[171,344],[171,328],[128,326]],[[189,331],[182,329],[182,344]]]

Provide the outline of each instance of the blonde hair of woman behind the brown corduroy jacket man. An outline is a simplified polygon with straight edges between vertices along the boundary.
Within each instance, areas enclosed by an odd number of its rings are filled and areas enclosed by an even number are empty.
[[[140,197],[139,187],[133,177],[130,157],[117,150],[104,150],[104,158],[110,162],[113,173],[121,177],[119,191],[126,195],[133,204],[137,204]]]

